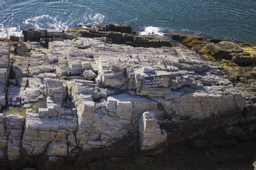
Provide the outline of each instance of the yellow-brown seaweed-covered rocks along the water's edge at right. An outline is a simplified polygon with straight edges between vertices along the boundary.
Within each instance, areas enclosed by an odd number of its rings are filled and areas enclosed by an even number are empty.
[[[239,89],[255,90],[256,45],[234,43],[191,34],[169,34],[172,39],[191,50],[202,53],[205,59],[219,62]],[[177,42],[175,42],[177,43]],[[254,101],[254,97],[248,95]],[[247,103],[248,110],[254,110],[255,102]]]

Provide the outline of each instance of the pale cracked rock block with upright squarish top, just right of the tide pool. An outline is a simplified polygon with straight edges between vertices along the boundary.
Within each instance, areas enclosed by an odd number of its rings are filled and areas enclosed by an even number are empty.
[[[62,107],[63,90],[62,81],[47,79],[47,108],[27,113],[22,147],[28,155],[41,155],[47,150],[48,157],[68,156],[76,146],[76,110]]]

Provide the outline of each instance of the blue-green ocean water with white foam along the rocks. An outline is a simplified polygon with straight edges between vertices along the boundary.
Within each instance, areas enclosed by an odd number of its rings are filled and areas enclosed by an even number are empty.
[[[0,0],[0,37],[109,22],[141,34],[190,32],[256,43],[256,0]]]

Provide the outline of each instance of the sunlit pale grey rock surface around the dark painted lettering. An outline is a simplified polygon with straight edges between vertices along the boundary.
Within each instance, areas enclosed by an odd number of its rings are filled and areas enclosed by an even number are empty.
[[[12,106],[47,103],[47,108],[28,111],[23,134],[21,126],[4,134],[0,113],[0,158],[6,143],[10,160],[20,156],[22,147],[32,157],[47,153],[53,161],[104,150],[138,131],[141,150],[154,150],[166,141],[157,120],[241,114],[248,96],[256,96],[241,92],[221,66],[189,50],[134,48],[103,38],[63,39],[58,31],[49,36],[49,49],[31,44],[31,57],[11,56],[17,85],[9,85],[8,92],[4,64],[10,60],[9,48],[0,48],[0,105],[6,94]]]

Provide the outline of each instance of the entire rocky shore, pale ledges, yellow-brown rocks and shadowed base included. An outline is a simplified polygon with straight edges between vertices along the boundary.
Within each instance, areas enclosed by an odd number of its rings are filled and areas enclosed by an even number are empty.
[[[22,32],[0,41],[3,169],[253,169],[256,45]]]

